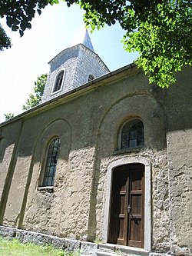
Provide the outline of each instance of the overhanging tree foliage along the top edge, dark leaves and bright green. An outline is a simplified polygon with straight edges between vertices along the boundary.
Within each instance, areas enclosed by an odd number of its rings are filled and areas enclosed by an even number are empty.
[[[68,6],[77,3],[85,10],[84,22],[94,28],[119,22],[125,31],[122,42],[128,52],[137,51],[136,64],[149,81],[161,87],[175,82],[175,72],[192,65],[191,0],[63,0]],[[20,35],[31,28],[35,12],[58,0],[0,0],[0,15]],[[3,4],[3,8],[2,8]]]

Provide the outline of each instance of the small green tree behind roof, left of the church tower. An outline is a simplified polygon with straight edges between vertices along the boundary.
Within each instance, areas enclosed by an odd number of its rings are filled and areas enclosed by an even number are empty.
[[[28,96],[28,99],[25,102],[25,105],[23,105],[22,107],[23,111],[33,108],[41,103],[41,97],[44,92],[47,78],[48,78],[47,74],[43,74],[37,78],[37,81],[35,81],[35,87],[34,87],[35,95],[30,94]]]

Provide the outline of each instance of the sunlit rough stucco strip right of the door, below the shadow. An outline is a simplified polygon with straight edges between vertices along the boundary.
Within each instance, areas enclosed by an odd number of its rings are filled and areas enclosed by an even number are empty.
[[[170,169],[170,239],[175,254],[192,248],[192,130],[167,135]]]

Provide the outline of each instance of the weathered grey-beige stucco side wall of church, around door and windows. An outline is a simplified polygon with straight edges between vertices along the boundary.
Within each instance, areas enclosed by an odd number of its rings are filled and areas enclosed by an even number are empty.
[[[1,224],[102,241],[104,204],[110,194],[105,189],[108,165],[141,157],[151,163],[151,188],[147,191],[151,197],[151,226],[147,227],[151,251],[190,255],[190,74],[190,68],[185,68],[177,85],[161,91],[148,85],[136,67],[127,68],[23,115],[22,128],[19,118],[2,125],[0,182],[6,193],[1,201],[5,206]],[[144,123],[144,148],[120,151],[119,128],[134,117]],[[55,185],[41,188],[46,148],[55,136],[61,138]],[[12,137],[18,138],[13,156]],[[5,182],[8,170],[13,174],[10,188]]]

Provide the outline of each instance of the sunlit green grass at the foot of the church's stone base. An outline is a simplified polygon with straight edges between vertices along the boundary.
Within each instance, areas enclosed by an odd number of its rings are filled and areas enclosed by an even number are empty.
[[[77,256],[77,253],[55,249],[51,245],[22,244],[17,239],[0,237],[0,256]]]

